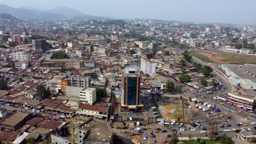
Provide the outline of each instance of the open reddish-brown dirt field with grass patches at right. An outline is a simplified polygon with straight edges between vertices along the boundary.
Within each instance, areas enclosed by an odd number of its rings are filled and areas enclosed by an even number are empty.
[[[220,64],[256,64],[256,56],[241,55],[239,53],[230,53],[218,50],[204,50],[190,52],[190,54],[203,62],[207,61]]]

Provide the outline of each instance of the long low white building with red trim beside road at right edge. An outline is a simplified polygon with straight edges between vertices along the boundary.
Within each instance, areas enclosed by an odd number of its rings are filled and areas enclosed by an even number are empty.
[[[253,111],[253,109],[255,108],[255,105],[254,105],[255,96],[254,95],[246,95],[246,94],[240,94],[240,93],[229,93],[227,101],[228,101],[229,105],[235,105],[237,108],[240,108],[240,109]]]

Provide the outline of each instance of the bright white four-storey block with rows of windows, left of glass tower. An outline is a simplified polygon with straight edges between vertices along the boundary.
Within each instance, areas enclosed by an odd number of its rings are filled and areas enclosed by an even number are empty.
[[[80,100],[92,105],[96,101],[96,88],[84,88],[80,91]]]

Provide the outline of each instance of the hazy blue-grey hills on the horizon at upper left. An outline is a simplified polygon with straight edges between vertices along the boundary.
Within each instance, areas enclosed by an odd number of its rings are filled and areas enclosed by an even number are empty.
[[[12,8],[8,5],[0,4],[0,13],[11,14],[19,19],[44,19],[44,20],[107,20],[109,18],[83,14],[79,10],[57,7],[50,10],[40,10],[32,7]]]

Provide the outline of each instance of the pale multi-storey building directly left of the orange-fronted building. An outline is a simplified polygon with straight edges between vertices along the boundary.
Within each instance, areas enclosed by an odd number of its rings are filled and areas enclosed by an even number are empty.
[[[50,88],[50,91],[52,92],[61,92],[61,80],[65,76],[55,76],[53,79],[47,82],[47,87]]]

